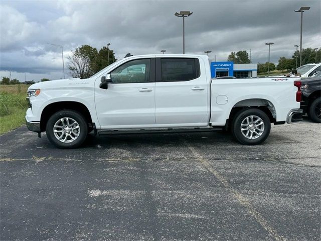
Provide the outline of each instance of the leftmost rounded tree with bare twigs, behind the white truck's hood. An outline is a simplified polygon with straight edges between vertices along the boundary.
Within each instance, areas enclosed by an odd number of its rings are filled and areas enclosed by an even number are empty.
[[[89,78],[94,73],[98,72],[97,64],[98,51],[90,45],[82,45],[68,56],[69,63],[67,64],[70,74],[74,78]]]

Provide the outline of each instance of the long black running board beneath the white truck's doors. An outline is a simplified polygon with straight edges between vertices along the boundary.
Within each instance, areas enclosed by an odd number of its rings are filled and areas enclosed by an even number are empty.
[[[97,130],[98,131],[98,130]],[[222,128],[189,128],[189,129],[161,129],[161,130],[148,130],[148,129],[140,129],[140,130],[104,130],[98,131],[99,136],[104,135],[140,135],[140,134],[173,134],[173,133],[200,133],[200,132],[215,132],[222,131]]]

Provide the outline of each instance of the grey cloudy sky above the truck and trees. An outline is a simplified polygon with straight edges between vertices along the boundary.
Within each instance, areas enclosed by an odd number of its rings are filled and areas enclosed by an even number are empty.
[[[253,63],[291,57],[299,44],[302,6],[303,48],[321,47],[320,0],[212,0],[212,1],[0,1],[0,78],[39,81],[62,77],[72,50],[89,44],[98,50],[107,43],[121,59],[134,55],[182,53],[182,18],[175,12],[191,11],[185,21],[185,52],[226,61],[232,51],[251,49]],[[68,76],[68,70],[66,75]]]

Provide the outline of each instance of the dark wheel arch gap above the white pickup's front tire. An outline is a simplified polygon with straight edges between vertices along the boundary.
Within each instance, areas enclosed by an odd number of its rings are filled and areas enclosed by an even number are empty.
[[[48,104],[41,113],[40,118],[40,130],[41,132],[46,130],[46,125],[48,122],[48,119],[51,115],[56,113],[59,110],[63,109],[70,109],[70,110],[76,110],[79,113],[81,113],[85,119],[88,126],[92,126],[92,117],[90,115],[89,109],[86,105],[83,103],[77,102],[77,101],[57,101]]]

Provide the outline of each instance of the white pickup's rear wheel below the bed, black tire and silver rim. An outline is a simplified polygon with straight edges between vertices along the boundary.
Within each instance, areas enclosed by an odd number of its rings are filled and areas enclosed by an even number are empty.
[[[252,117],[251,117],[252,116]],[[246,118],[249,118],[246,121]],[[251,121],[252,120],[252,121]],[[260,121],[261,120],[261,121]],[[255,121],[258,121],[255,124]],[[263,124],[261,124],[263,122]],[[241,131],[241,125],[245,123],[248,126],[243,127],[248,130]],[[252,130],[253,128],[253,130]],[[266,140],[271,131],[271,123],[267,114],[256,108],[242,109],[235,113],[232,121],[231,131],[233,137],[243,145],[259,145]],[[247,136],[248,133],[248,137]],[[251,136],[252,133],[252,136]],[[244,134],[244,135],[243,135]],[[250,136],[253,139],[250,139]]]

